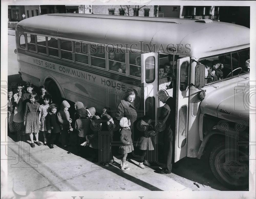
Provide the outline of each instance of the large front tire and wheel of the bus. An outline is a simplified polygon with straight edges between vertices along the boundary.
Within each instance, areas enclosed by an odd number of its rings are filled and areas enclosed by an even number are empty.
[[[227,151],[225,142],[220,142],[212,149],[209,162],[213,175],[232,190],[247,190],[249,188],[249,160],[240,160],[239,157],[247,157],[248,152],[238,149],[238,161],[225,163]],[[245,165],[244,168],[243,165]]]

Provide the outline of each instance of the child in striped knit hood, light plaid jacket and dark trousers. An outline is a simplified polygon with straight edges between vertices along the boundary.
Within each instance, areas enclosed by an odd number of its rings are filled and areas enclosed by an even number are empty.
[[[68,133],[69,133],[69,112],[68,109],[70,108],[69,103],[64,100],[60,105],[60,110],[57,114],[58,121],[60,123],[60,134],[61,134],[61,144],[64,147],[67,147],[68,144]]]

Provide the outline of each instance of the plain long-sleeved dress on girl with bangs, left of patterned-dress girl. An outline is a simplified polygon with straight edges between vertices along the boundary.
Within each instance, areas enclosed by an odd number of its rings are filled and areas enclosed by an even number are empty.
[[[25,123],[25,132],[26,133],[38,133],[39,132],[39,124],[38,124],[38,111],[39,103],[35,102],[26,103],[26,108],[24,111],[24,121]]]

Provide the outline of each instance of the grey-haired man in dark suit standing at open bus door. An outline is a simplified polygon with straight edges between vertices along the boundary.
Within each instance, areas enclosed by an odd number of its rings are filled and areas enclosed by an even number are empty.
[[[172,153],[173,153],[173,131],[175,125],[175,101],[168,95],[166,90],[161,89],[157,93],[158,99],[165,103],[161,108],[159,115],[159,121],[165,124],[163,133],[164,140],[164,164],[165,167],[158,169],[155,172],[158,174],[170,174],[172,173]]]

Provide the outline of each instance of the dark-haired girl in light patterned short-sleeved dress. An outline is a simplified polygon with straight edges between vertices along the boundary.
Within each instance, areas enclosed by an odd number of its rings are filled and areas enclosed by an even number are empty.
[[[39,106],[39,114],[38,114],[38,121],[39,121],[39,132],[43,132],[44,135],[44,145],[47,145],[47,130],[46,130],[46,123],[45,117],[48,114],[49,110],[49,102],[51,101],[51,96],[46,94],[43,97],[44,103]]]

